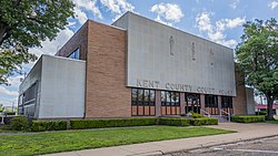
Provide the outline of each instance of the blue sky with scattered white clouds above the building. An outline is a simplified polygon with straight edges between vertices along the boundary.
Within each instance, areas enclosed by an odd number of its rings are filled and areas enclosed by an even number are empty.
[[[242,24],[254,19],[278,20],[278,0],[72,0],[75,18],[54,41],[42,42],[42,48],[30,52],[54,54],[87,19],[111,24],[126,11],[175,27],[214,42],[235,49],[242,34]],[[23,65],[29,72],[34,63]],[[10,85],[0,85],[0,104],[17,104],[20,77],[9,79]]]

